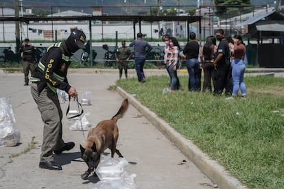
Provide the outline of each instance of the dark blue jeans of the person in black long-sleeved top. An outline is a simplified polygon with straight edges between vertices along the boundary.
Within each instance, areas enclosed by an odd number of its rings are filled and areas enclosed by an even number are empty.
[[[187,60],[187,72],[189,73],[189,86],[193,91],[200,90],[200,62],[196,58]]]

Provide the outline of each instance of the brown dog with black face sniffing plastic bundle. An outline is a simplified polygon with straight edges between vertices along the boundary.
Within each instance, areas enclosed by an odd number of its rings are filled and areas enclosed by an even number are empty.
[[[82,159],[88,165],[88,170],[81,175],[82,179],[86,180],[97,165],[101,153],[104,153],[105,149],[110,149],[111,157],[117,153],[119,157],[123,157],[117,149],[117,140],[119,137],[119,129],[117,127],[117,120],[122,118],[123,114],[128,109],[128,99],[124,99],[121,103],[121,107],[115,116],[109,120],[100,121],[96,127],[88,131],[88,137],[84,144],[84,147],[80,145]],[[95,175],[95,172],[94,172]]]

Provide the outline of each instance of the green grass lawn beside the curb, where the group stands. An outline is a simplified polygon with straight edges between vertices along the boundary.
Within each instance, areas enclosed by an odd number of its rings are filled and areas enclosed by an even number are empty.
[[[188,92],[187,76],[181,92],[163,95],[169,77],[120,79],[120,86],[176,131],[192,140],[250,188],[284,186],[284,79],[245,77],[247,99],[225,99],[209,92]],[[273,112],[279,110],[279,112]]]

